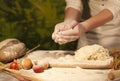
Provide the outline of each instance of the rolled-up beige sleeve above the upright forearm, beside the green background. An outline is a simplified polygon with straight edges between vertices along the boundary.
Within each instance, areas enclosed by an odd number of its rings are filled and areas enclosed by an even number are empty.
[[[79,11],[82,11],[83,7],[81,4],[81,0],[65,0],[66,1],[66,8],[72,7]]]

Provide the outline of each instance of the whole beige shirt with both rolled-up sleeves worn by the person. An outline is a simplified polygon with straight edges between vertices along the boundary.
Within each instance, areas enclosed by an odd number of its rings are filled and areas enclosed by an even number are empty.
[[[66,8],[72,7],[82,12],[81,0],[66,0]],[[108,49],[120,48],[120,0],[89,0],[91,16],[103,9],[109,9],[113,20],[97,27],[80,37],[78,47],[86,44],[100,44]],[[104,17],[104,16],[103,16]]]

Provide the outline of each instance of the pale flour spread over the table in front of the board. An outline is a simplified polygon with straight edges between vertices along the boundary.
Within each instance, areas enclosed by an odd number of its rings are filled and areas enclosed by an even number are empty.
[[[50,68],[43,73],[22,70],[22,73],[38,77],[43,81],[106,81],[108,70],[87,70],[81,68]]]

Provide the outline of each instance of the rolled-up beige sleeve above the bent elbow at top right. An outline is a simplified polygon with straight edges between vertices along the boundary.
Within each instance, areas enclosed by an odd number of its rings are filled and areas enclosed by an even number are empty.
[[[120,18],[120,0],[108,0],[104,8],[110,10],[113,14],[113,19]]]

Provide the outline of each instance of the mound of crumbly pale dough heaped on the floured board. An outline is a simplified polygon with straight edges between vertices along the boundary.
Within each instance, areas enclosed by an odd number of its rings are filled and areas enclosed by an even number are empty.
[[[109,50],[98,44],[87,45],[75,51],[76,60],[106,60],[109,58]]]

